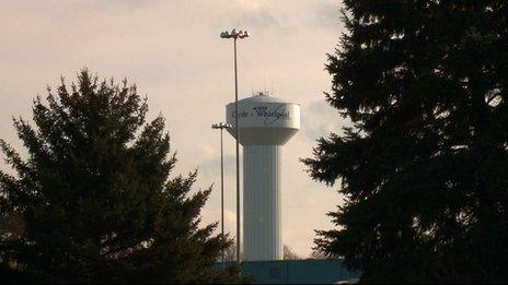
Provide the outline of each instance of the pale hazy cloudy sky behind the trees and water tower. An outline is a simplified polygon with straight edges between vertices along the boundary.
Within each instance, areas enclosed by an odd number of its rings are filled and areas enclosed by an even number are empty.
[[[198,168],[195,190],[213,185],[203,224],[220,219],[220,134],[234,100],[233,45],[219,37],[236,27],[239,97],[268,91],[301,104],[301,130],[282,149],[282,242],[308,257],[314,229],[342,198],[313,181],[300,158],[315,140],[346,122],[324,100],[331,88],[326,54],[343,32],[337,0],[0,0],[0,138],[22,150],[12,116],[31,118],[33,98],[88,68],[100,78],[136,83],[149,117],[166,119],[178,163],[173,177]],[[224,132],[226,230],[235,233],[234,141]],[[5,170],[5,165],[0,165]]]

